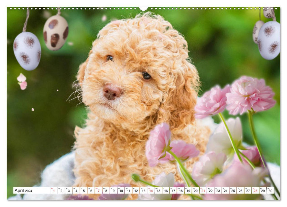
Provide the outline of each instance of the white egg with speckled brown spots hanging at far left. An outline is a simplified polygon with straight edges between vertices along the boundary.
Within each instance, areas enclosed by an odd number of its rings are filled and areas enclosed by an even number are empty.
[[[41,58],[41,46],[36,35],[22,32],[14,40],[14,55],[25,70],[34,70]]]

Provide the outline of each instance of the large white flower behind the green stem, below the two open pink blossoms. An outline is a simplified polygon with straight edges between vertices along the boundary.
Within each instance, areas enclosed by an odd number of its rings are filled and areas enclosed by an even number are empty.
[[[237,117],[236,119],[228,119],[226,121],[226,124],[234,140],[235,146],[237,148],[240,147],[242,143],[242,128],[239,117]],[[226,154],[228,161],[230,161],[234,156],[234,149],[231,145],[223,122],[219,124],[219,126],[209,138],[206,152],[210,151],[214,151],[217,153],[223,152],[224,154]]]

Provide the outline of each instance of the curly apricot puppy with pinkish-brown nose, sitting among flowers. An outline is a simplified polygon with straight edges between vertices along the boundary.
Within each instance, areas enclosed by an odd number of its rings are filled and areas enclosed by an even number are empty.
[[[198,73],[188,59],[187,41],[169,22],[150,13],[110,22],[77,79],[89,114],[86,127],[75,129],[74,186],[144,186],[132,181],[132,173],[151,182],[161,172],[172,172],[183,182],[175,164],[152,168],[145,157],[156,124],[167,122],[173,140],[193,143],[201,153],[210,134],[194,122]],[[190,172],[196,160],[184,163]]]

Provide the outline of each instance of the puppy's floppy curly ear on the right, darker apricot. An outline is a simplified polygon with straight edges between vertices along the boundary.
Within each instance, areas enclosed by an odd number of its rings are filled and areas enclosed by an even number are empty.
[[[194,121],[194,106],[199,87],[198,72],[184,60],[182,68],[174,74],[173,86],[158,111],[157,123],[168,122],[171,131],[182,130]]]

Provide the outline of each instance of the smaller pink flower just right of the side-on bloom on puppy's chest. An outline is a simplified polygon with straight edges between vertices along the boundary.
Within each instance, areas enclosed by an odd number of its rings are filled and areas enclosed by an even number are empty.
[[[182,161],[196,157],[200,153],[193,144],[187,144],[183,140],[174,140],[169,146],[172,147],[171,151]],[[174,161],[174,157],[168,152],[164,158],[160,159],[160,162],[162,163],[167,160]]]

